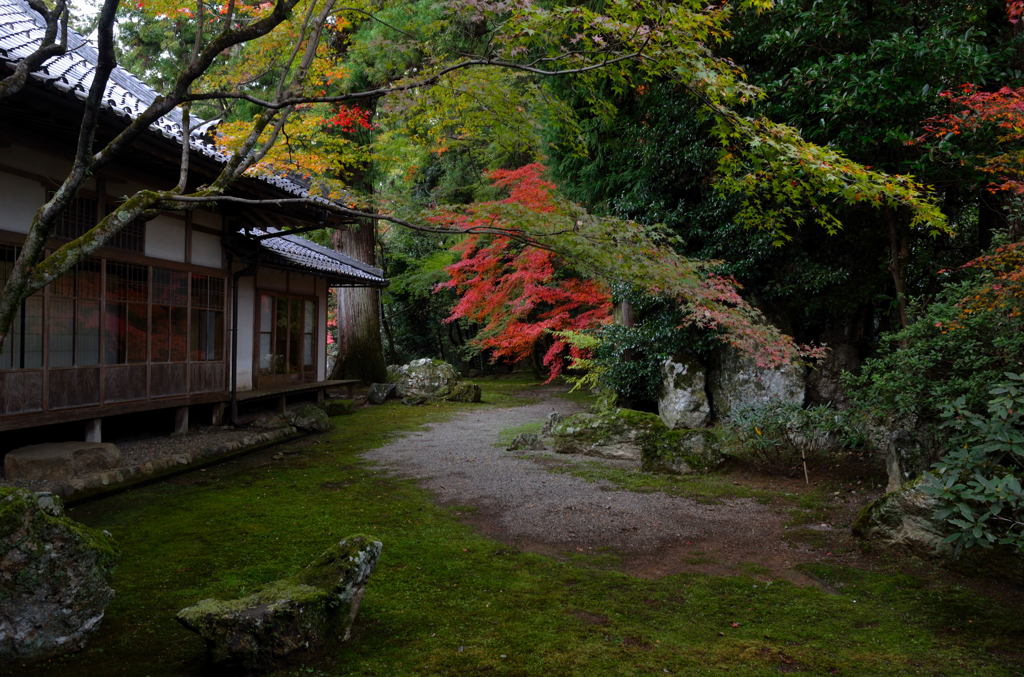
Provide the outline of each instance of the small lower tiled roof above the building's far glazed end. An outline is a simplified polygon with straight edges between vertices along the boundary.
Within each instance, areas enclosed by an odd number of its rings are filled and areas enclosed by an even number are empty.
[[[276,238],[263,237],[272,236],[275,232],[282,235]],[[335,282],[341,285],[360,287],[384,287],[387,285],[384,271],[380,268],[357,261],[333,249],[321,247],[304,238],[287,235],[285,231],[272,227],[250,228],[247,232],[240,235],[260,238],[258,242],[263,256],[269,254],[270,257],[280,259],[286,267],[297,267],[307,272],[334,278]]]

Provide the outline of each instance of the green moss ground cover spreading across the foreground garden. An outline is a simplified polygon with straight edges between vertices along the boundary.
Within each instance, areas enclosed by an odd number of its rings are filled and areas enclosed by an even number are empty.
[[[484,383],[484,399],[513,401],[521,386]],[[384,551],[352,640],[280,674],[1024,671],[1019,610],[962,589],[825,564],[806,573],[827,590],[746,577],[634,579],[477,536],[458,520],[461,508],[435,506],[359,459],[389,433],[473,407],[366,408],[338,417],[332,433],[284,446],[295,453],[283,462],[267,452],[74,509],[115,535],[118,596],[85,651],[18,674],[201,674],[203,645],[174,621],[180,608],[251,593],[361,533]]]

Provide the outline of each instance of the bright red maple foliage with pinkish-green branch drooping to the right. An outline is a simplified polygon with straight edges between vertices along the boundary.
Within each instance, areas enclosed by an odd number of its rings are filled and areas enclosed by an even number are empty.
[[[447,227],[475,231],[455,247],[460,260],[446,268],[450,280],[438,289],[459,294],[447,321],[466,319],[481,325],[475,343],[488,349],[493,359],[516,362],[528,357],[551,332],[585,331],[611,322],[611,296],[602,279],[628,281],[651,294],[675,298],[685,323],[716,333],[760,366],[822,354],[820,348],[795,345],[765,321],[739,295],[735,280],[658,245],[644,235],[643,226],[618,222],[609,231],[608,222],[583,225],[573,208],[555,199],[555,185],[543,178],[544,170],[531,164],[490,172],[490,180],[506,188],[508,198],[469,205],[436,219]],[[481,235],[481,229],[489,232]],[[572,260],[530,244],[536,243],[530,232],[561,237],[540,239],[558,243],[555,248],[570,252]],[[587,356],[579,352],[554,338],[543,358],[551,378],[562,371],[567,356]]]

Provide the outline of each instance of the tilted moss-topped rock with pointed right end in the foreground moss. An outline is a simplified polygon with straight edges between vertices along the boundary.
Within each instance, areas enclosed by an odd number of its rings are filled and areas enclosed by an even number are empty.
[[[349,537],[296,576],[239,599],[204,599],[177,620],[203,638],[214,663],[268,670],[294,651],[349,638],[380,553],[380,541]]]

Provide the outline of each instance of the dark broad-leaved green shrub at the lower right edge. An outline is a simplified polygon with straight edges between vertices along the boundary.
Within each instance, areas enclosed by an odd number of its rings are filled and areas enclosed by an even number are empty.
[[[1004,545],[1024,553],[1024,374],[1004,376],[985,414],[964,396],[944,408],[952,451],[922,486],[939,500],[935,516],[952,527],[946,541],[957,552]]]

